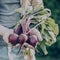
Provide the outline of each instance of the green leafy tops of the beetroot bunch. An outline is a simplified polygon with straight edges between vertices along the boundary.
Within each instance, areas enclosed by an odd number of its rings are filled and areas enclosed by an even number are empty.
[[[21,13],[21,12],[23,12],[23,9],[19,8],[16,10],[16,12]],[[34,26],[38,28],[37,30],[39,32],[41,32],[40,34],[43,39],[42,42],[39,42],[39,46],[42,49],[42,51],[44,52],[44,54],[46,55],[48,53],[46,50],[46,46],[51,46],[53,43],[55,43],[56,36],[59,33],[58,25],[55,23],[54,19],[52,19],[53,15],[51,16],[51,11],[44,7],[43,8],[35,8],[32,11],[27,9],[25,18],[26,18],[26,16],[28,16],[28,17],[33,16],[31,18],[31,20],[33,21],[32,25],[36,24],[36,26],[35,25]],[[24,18],[24,16],[23,16],[23,18]]]

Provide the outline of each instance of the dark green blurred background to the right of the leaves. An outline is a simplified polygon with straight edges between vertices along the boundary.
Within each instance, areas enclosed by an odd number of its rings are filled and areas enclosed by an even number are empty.
[[[60,33],[60,0],[44,0],[45,7],[51,9],[51,17],[55,19],[55,22],[59,25]],[[47,47],[49,56],[60,57],[60,34],[57,37],[57,42],[52,47]]]

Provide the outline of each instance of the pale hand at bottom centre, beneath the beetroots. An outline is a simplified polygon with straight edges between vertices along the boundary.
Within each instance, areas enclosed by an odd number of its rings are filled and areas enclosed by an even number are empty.
[[[24,56],[24,60],[36,60],[35,49],[28,43],[24,43],[21,47],[21,52]]]

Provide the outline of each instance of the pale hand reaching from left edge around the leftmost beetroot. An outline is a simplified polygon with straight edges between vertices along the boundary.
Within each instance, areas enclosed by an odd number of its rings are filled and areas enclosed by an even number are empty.
[[[9,42],[9,36],[11,34],[14,34],[14,36],[18,36],[14,33],[13,29],[8,29],[2,25],[0,25],[0,35],[2,36],[3,40],[9,45],[12,46],[12,44]],[[19,44],[16,44],[15,47],[19,46]]]

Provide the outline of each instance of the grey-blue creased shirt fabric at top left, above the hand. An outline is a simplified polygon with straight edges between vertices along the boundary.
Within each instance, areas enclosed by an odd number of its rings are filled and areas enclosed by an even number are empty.
[[[6,27],[12,27],[19,20],[18,13],[12,13],[20,7],[19,0],[0,0],[0,24]]]

